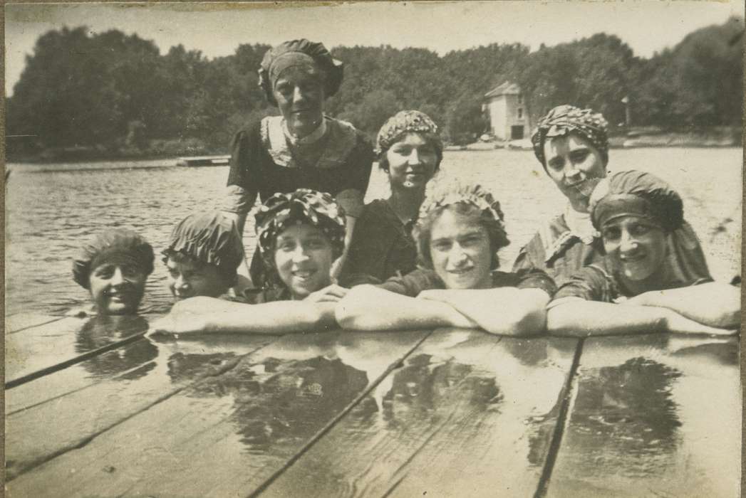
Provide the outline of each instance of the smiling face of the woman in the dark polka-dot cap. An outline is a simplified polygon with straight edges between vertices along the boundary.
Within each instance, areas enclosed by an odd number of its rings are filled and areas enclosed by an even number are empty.
[[[275,240],[275,268],[292,299],[331,284],[333,249],[328,237],[313,225],[290,226]]]

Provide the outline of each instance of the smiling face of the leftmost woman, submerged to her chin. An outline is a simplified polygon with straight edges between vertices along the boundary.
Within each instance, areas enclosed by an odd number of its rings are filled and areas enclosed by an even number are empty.
[[[90,293],[96,310],[102,315],[130,315],[145,292],[148,275],[136,265],[103,263],[90,274]]]

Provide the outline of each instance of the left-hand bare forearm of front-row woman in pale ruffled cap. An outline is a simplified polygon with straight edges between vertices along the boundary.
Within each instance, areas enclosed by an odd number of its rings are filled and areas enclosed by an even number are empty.
[[[358,331],[468,327],[450,304],[401,296],[372,286],[354,287],[336,307],[342,328]]]

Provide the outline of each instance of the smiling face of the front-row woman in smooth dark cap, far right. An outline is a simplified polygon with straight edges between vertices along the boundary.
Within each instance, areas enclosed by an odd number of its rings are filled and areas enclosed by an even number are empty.
[[[630,281],[655,278],[665,259],[665,232],[649,220],[625,216],[611,220],[601,231],[606,255]]]

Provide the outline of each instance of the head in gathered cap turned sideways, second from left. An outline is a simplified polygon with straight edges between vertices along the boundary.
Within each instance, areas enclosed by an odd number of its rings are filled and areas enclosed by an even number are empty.
[[[162,254],[177,299],[220,296],[236,283],[244,259],[236,224],[219,211],[189,214],[177,223]]]

